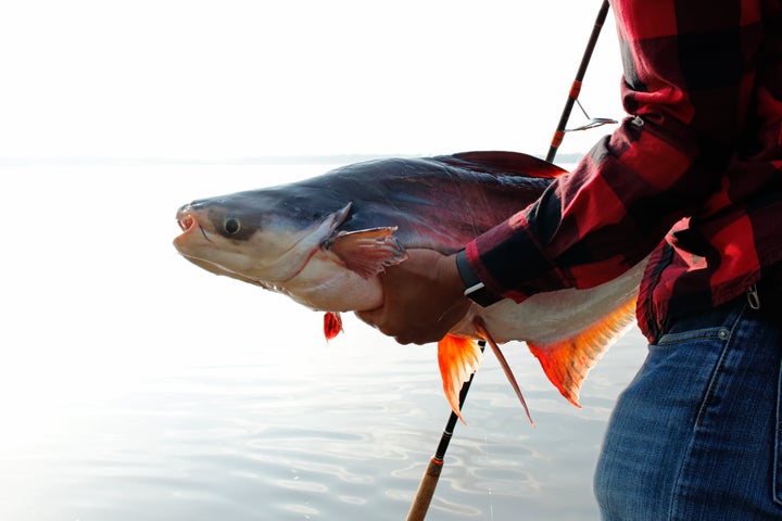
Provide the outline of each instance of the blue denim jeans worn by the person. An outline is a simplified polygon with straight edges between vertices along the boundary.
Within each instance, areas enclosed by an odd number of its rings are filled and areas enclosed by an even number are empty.
[[[604,521],[782,519],[780,321],[739,298],[649,346],[597,462]]]

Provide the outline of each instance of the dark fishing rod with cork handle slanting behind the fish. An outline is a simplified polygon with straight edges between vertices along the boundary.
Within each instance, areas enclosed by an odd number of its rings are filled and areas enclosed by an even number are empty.
[[[565,109],[563,110],[562,116],[559,117],[559,124],[557,125],[557,129],[554,132],[554,138],[552,139],[551,148],[548,149],[548,154],[546,155],[546,161],[548,163],[554,162],[557,149],[559,148],[559,144],[565,138],[566,131],[585,130],[588,128],[598,127],[608,123],[617,123],[614,119],[607,118],[590,118],[586,114],[586,111],[584,111],[583,106],[581,106],[581,103],[579,103],[578,101],[579,93],[581,92],[581,82],[583,81],[583,77],[586,74],[586,67],[590,60],[592,59],[592,52],[594,51],[595,45],[597,43],[597,37],[600,36],[601,29],[603,28],[603,24],[605,23],[607,15],[608,0],[603,0],[603,4],[601,5],[601,9],[597,13],[597,18],[595,20],[594,27],[592,28],[592,34],[590,35],[590,39],[586,42],[586,49],[584,50],[583,56],[581,58],[581,64],[579,65],[578,72],[576,73],[576,79],[570,87],[570,92],[568,93]],[[589,123],[581,127],[566,130],[565,127],[567,126],[567,122],[570,118],[570,113],[572,112],[572,107],[576,103],[578,103],[579,109],[581,109],[581,112],[583,112],[584,116],[586,116]],[[483,353],[483,350],[485,348],[485,342],[480,341],[478,345],[480,346],[481,353]],[[472,383],[475,374],[476,373],[474,372],[470,376],[469,380],[467,380],[462,385],[462,391],[459,391],[459,409],[464,406],[465,399],[467,399],[467,393],[469,392],[469,387]],[[440,436],[440,443],[438,444],[437,450],[434,452],[434,456],[432,456],[432,458],[429,460],[429,463],[424,471],[424,476],[418,484],[418,491],[413,498],[413,505],[411,505],[406,521],[424,521],[424,519],[426,518],[427,511],[429,510],[429,505],[431,504],[432,497],[434,496],[434,488],[437,487],[438,481],[440,481],[440,474],[442,473],[442,468],[445,462],[445,452],[447,450],[451,439],[453,437],[453,432],[456,428],[457,421],[458,416],[456,416],[456,412],[451,411],[447,423],[445,423],[445,429]]]

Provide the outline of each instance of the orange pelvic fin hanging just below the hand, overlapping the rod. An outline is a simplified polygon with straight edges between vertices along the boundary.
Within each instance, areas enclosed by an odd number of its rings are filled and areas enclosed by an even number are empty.
[[[478,342],[472,339],[463,339],[446,334],[438,342],[438,364],[440,365],[440,376],[443,381],[443,391],[445,391],[445,399],[447,399],[451,409],[456,412],[463,423],[466,423],[462,417],[459,408],[459,392],[462,384],[469,380],[481,361],[481,352]]]

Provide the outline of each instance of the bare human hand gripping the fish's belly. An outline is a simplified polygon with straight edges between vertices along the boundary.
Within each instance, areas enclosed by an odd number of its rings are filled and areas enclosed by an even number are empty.
[[[467,314],[470,301],[455,255],[408,250],[407,260],[380,274],[383,304],[355,315],[401,344],[437,342]]]

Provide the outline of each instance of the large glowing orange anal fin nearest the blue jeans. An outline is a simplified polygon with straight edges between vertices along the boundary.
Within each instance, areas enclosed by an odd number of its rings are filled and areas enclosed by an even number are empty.
[[[622,304],[603,320],[576,336],[550,345],[528,343],[548,380],[576,407],[581,382],[608,347],[623,333],[635,316],[635,298]]]

